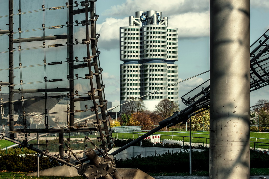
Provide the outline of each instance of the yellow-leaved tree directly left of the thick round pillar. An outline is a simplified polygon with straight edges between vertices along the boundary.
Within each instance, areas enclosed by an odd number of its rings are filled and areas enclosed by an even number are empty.
[[[196,112],[198,112],[198,111],[196,111]],[[207,109],[207,110],[199,112],[198,114],[191,117],[192,125],[200,124],[199,126],[194,126],[194,130],[204,130],[203,124],[209,125],[209,120],[210,120],[209,114],[210,114],[209,109]],[[206,129],[207,128],[205,126],[205,130]]]

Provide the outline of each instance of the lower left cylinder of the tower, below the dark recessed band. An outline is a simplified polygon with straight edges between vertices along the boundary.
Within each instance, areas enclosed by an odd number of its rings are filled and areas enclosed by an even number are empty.
[[[128,62],[120,65],[121,103],[140,97],[140,64]]]

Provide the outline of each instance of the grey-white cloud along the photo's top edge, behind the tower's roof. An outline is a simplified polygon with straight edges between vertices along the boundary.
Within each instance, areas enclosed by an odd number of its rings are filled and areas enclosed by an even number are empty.
[[[136,11],[146,11],[150,9],[162,12],[163,16],[186,12],[204,12],[209,10],[209,0],[127,0],[121,5],[112,6],[104,12],[104,15],[131,16],[135,14]]]

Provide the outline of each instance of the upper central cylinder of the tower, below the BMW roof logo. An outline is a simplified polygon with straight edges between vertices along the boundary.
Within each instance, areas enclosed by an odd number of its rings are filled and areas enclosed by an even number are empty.
[[[144,25],[141,27],[141,59],[167,59],[167,27]]]

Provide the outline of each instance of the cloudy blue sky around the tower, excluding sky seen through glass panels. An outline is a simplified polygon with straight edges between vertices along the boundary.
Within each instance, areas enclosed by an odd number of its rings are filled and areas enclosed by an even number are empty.
[[[143,6],[141,6],[143,2]],[[250,43],[256,41],[268,28],[266,17],[269,4],[266,1],[250,0]],[[117,0],[97,1],[100,14],[97,29],[101,36],[98,48],[106,71],[104,80],[108,100],[119,101],[119,27],[129,25],[129,16],[136,11],[156,10],[168,17],[168,25],[178,28],[179,81],[209,70],[209,0]],[[101,6],[104,5],[104,6]],[[209,73],[180,83],[180,97],[209,78]],[[251,93],[251,103],[269,99],[269,87]],[[113,94],[112,96],[110,94]],[[180,103],[181,108],[184,104]]]

